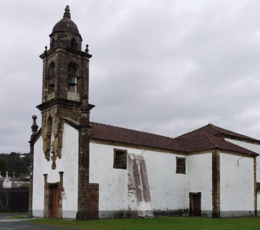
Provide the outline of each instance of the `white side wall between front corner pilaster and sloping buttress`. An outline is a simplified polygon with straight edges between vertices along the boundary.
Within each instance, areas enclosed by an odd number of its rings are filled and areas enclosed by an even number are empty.
[[[89,181],[99,184],[100,218],[113,217],[113,211],[125,210],[128,169],[113,169],[114,148],[125,149],[90,143]]]

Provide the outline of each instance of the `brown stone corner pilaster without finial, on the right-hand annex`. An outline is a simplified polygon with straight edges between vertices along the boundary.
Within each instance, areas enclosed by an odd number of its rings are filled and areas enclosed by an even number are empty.
[[[212,217],[220,217],[220,152],[212,152]]]

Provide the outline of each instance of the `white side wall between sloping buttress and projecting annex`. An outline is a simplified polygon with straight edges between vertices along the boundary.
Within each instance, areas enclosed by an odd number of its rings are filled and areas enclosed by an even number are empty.
[[[146,161],[153,210],[187,209],[187,175],[176,173],[176,157],[186,156],[152,151],[142,155]]]

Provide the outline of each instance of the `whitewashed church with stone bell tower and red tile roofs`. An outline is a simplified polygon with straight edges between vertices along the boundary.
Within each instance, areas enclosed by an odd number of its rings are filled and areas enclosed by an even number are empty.
[[[88,45],[65,8],[32,116],[28,216],[260,215],[260,140],[212,124],[176,138],[90,122]],[[90,86],[91,87],[91,86]]]

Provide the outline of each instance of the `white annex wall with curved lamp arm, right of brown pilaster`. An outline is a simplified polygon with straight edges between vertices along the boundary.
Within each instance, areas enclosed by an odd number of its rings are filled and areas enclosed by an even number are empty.
[[[253,158],[220,153],[220,212],[221,216],[254,214]]]

